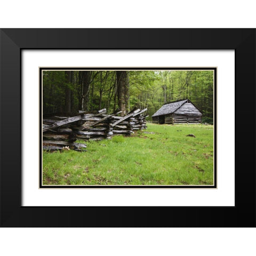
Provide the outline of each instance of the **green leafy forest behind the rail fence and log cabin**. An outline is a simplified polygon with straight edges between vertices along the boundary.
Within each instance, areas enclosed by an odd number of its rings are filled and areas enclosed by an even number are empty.
[[[213,70],[43,70],[43,115],[107,113],[147,108],[148,120],[164,103],[191,100],[202,122],[213,124]]]

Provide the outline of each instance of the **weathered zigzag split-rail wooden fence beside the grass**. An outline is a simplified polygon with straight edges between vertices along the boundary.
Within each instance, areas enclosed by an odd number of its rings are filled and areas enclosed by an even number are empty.
[[[131,135],[136,130],[147,129],[146,116],[142,115],[146,110],[135,109],[124,117],[118,116],[122,111],[107,115],[106,109],[101,109],[97,114],[79,111],[73,117],[43,119],[43,149],[86,151],[86,144],[75,141],[111,139],[113,135]]]

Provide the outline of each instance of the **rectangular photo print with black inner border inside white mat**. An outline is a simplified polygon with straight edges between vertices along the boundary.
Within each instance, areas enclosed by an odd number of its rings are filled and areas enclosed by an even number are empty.
[[[217,68],[39,68],[39,187],[217,188]]]

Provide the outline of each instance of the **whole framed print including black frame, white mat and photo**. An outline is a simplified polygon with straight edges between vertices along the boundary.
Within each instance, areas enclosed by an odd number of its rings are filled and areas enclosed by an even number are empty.
[[[255,227],[255,29],[1,29],[2,227]]]

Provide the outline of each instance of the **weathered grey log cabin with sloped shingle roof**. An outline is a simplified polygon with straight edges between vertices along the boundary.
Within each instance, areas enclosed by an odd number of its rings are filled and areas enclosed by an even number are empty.
[[[201,124],[201,111],[188,99],[164,104],[152,116],[157,124]]]

